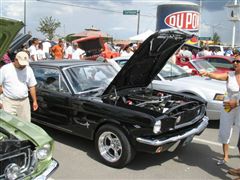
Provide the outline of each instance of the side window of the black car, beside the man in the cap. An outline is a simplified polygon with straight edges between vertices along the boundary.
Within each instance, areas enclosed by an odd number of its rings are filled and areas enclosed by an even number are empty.
[[[68,88],[58,69],[33,67],[37,88],[68,93]]]

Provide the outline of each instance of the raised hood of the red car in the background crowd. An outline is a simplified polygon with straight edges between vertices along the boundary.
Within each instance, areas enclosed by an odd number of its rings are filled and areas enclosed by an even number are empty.
[[[76,39],[73,43],[78,43],[78,46],[84,51],[102,49],[104,44],[103,38],[95,36]]]

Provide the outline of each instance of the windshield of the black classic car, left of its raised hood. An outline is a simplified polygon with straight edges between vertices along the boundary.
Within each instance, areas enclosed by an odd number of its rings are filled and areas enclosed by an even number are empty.
[[[108,64],[74,66],[65,70],[70,86],[76,94],[84,91],[104,90],[117,74]]]

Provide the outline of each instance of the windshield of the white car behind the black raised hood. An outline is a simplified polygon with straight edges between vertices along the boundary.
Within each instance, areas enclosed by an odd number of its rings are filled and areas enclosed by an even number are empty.
[[[160,71],[160,75],[165,79],[173,79],[173,78],[190,76],[185,70],[169,62]]]

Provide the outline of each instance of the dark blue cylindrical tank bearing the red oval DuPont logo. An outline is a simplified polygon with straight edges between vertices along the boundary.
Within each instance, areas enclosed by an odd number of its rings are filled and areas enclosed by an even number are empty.
[[[171,2],[158,6],[156,30],[179,28],[199,31],[199,5],[190,2]]]

